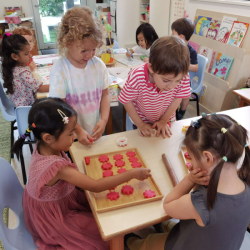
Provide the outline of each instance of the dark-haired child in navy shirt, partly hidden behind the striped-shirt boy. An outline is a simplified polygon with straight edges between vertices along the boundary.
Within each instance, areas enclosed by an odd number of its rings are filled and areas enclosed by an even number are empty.
[[[172,23],[171,26],[172,35],[179,36],[181,39],[185,41],[188,46],[190,52],[190,66],[189,71],[197,72],[198,71],[198,60],[196,51],[189,45],[188,41],[194,33],[194,25],[192,21],[188,18],[180,18]],[[181,108],[178,111],[178,120],[182,119],[187,106],[189,104],[189,98],[185,98],[181,102]]]

